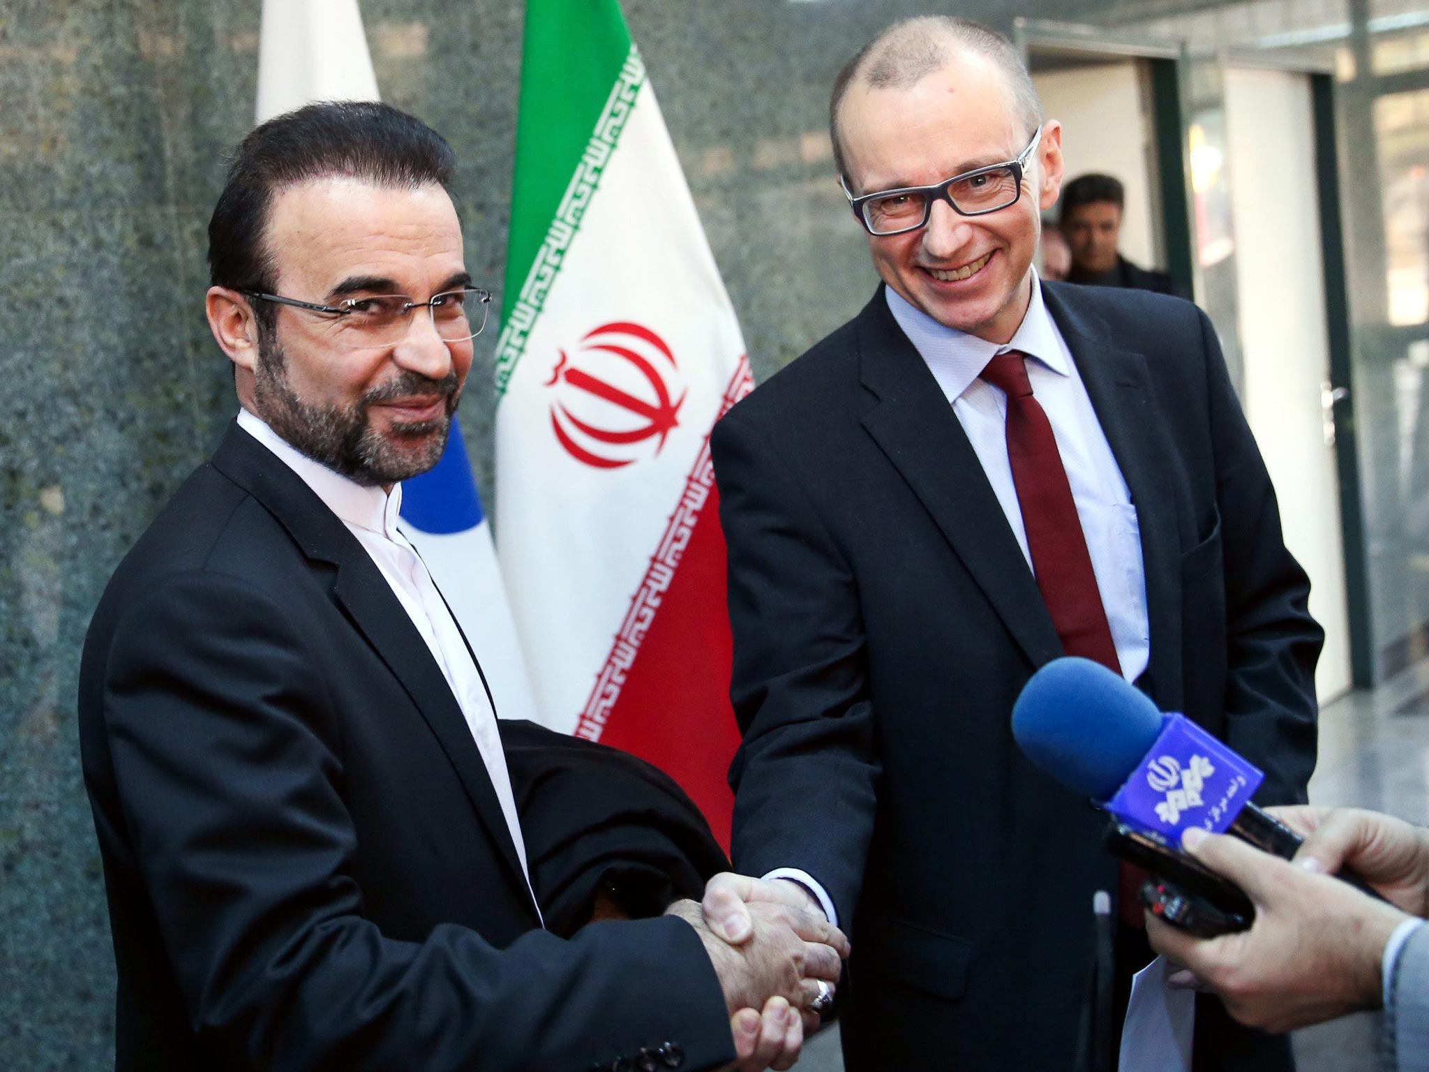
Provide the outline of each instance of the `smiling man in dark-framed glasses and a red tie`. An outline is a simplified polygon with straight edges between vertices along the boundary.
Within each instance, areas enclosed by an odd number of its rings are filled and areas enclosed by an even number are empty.
[[[1137,883],[1019,755],[1013,702],[1096,659],[1263,768],[1266,803],[1303,800],[1309,585],[1206,317],[1037,279],[1062,129],[1006,39],[885,30],[830,127],[883,284],[713,433],[735,865],[850,930],[853,1072],[1086,1068],[1126,1008],[1089,998],[1093,893],[1119,902],[1125,983],[1150,959]],[[1195,1053],[1290,1061],[1209,1001]]]

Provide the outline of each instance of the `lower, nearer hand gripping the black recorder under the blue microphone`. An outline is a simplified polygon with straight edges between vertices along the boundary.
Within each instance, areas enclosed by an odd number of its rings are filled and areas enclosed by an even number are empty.
[[[1380,1003],[1380,958],[1405,919],[1399,909],[1235,838],[1187,830],[1182,845],[1245,890],[1256,920],[1198,939],[1147,913],[1146,936],[1219,993],[1232,1016],[1283,1032]]]

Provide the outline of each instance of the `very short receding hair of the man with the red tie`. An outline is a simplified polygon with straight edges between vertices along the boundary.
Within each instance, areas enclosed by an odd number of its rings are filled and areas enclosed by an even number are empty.
[[[849,177],[839,134],[839,107],[856,79],[883,89],[907,89],[923,77],[942,70],[957,53],[972,53],[993,63],[1012,91],[1013,107],[1027,127],[1027,137],[1042,123],[1042,99],[1032,83],[1027,66],[1017,47],[992,27],[946,14],[925,14],[902,19],[880,30],[873,40],[843,64],[829,94],[829,142],[833,144],[833,164],[839,176]]]

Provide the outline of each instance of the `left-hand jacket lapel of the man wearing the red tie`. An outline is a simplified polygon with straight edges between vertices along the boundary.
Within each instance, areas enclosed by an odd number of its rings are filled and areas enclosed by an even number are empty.
[[[857,330],[860,379],[877,397],[863,427],[932,515],[1032,665],[1057,657],[1062,640],[977,453],[889,312],[882,289],[859,316]]]

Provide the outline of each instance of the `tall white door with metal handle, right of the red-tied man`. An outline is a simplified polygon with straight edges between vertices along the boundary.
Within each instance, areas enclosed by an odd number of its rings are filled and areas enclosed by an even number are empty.
[[[1323,209],[1338,204],[1322,203],[1332,192],[1320,189],[1316,77],[1328,76],[1235,63],[1223,71],[1240,402],[1276,487],[1286,546],[1310,575],[1310,613],[1325,626],[1315,673],[1325,703],[1348,692],[1353,675],[1336,457],[1348,369],[1332,369],[1343,297],[1326,286],[1323,233]]]

